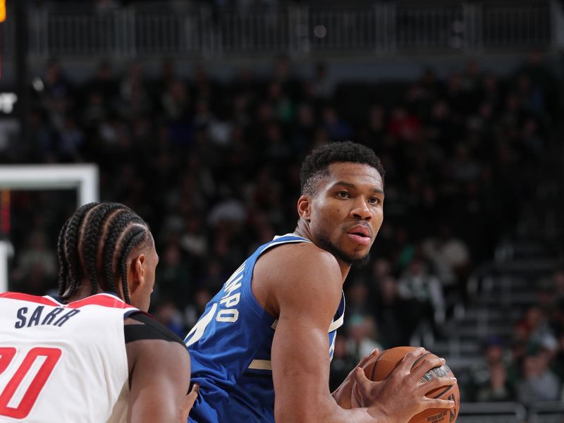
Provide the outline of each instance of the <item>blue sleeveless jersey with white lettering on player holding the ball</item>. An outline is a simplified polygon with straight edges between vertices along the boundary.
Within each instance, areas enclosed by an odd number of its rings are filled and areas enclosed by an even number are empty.
[[[281,244],[309,242],[288,234],[261,245],[208,303],[184,340],[190,350],[191,380],[200,384],[188,422],[274,423],[270,350],[276,319],[266,313],[252,294],[252,273],[265,250]],[[331,358],[336,329],[343,324],[344,312],[343,295],[328,331]]]

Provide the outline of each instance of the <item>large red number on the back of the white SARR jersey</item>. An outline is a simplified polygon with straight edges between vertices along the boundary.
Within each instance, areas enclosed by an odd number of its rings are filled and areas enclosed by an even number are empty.
[[[0,347],[0,374],[8,368],[8,364],[15,356],[16,348]],[[22,364],[0,395],[0,416],[13,417],[14,419],[27,417],[49,375],[53,372],[56,362],[59,361],[59,357],[61,357],[59,348],[32,348],[25,355]],[[32,369],[32,372],[30,372],[30,369]],[[30,378],[33,379],[30,381]],[[25,392],[21,392],[23,389],[25,389]],[[14,398],[16,391],[18,393]],[[8,405],[11,402],[12,404]]]

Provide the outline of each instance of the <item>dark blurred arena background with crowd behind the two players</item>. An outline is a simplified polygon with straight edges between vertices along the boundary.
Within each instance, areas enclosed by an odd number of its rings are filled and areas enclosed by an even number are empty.
[[[424,345],[458,422],[563,422],[562,1],[12,0],[0,37],[0,290],[55,290],[66,218],[123,202],[183,337],[293,230],[305,155],[355,140],[384,162],[385,219],[331,386]]]

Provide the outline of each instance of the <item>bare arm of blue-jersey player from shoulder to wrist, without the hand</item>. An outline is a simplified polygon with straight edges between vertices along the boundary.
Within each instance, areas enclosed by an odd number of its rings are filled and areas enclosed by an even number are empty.
[[[328,330],[341,300],[341,271],[329,253],[304,247],[265,255],[253,279],[269,287],[278,315],[271,351],[276,422],[377,422],[366,408],[339,407],[329,392]]]

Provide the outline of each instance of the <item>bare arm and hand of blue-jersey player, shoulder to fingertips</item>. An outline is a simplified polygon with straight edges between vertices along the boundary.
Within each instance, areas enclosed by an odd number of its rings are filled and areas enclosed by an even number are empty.
[[[278,247],[259,259],[252,283],[259,302],[278,317],[271,349],[276,422],[404,423],[427,408],[453,406],[447,400],[425,397],[453,380],[419,382],[424,372],[442,364],[439,357],[425,357],[411,372],[424,350],[408,353],[381,382],[369,381],[360,369],[352,372],[350,377],[360,384],[369,407],[348,410],[345,401],[338,404],[331,396],[328,331],[341,300],[342,278],[329,253],[313,245]],[[350,396],[350,381],[345,385],[341,397],[344,392]]]

